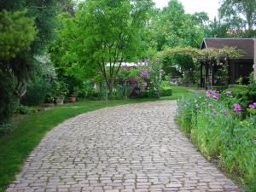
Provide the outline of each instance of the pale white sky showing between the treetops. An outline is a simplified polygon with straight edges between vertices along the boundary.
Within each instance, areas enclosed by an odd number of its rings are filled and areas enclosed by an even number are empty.
[[[165,7],[169,0],[153,0],[157,8]],[[179,0],[183,3],[187,14],[205,11],[210,19],[218,16],[219,0]]]

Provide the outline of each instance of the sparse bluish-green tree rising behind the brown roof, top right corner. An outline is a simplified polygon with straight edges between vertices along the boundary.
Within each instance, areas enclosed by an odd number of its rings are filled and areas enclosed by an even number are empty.
[[[221,20],[235,34],[241,36],[245,31],[247,37],[253,37],[253,26],[256,26],[255,0],[222,0],[218,12]]]

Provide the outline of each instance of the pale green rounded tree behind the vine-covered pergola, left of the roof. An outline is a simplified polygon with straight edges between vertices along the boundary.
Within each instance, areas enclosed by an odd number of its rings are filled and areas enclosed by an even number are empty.
[[[203,28],[195,17],[185,14],[183,4],[171,0],[168,6],[154,16],[151,28],[156,49],[165,47],[199,47],[203,38]]]

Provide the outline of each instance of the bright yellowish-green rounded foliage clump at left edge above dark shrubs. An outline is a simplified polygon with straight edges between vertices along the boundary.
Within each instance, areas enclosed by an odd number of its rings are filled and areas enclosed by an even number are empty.
[[[27,52],[35,35],[34,21],[26,17],[26,11],[0,12],[0,63],[15,58],[22,51]]]

